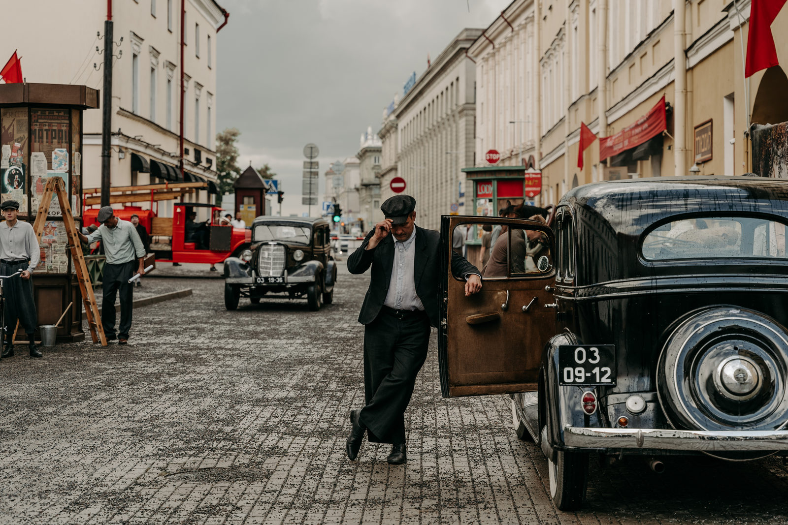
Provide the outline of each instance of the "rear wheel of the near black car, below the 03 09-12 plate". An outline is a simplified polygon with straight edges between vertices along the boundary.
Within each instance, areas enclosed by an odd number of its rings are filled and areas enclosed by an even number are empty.
[[[547,439],[547,427],[542,427],[541,438]],[[559,450],[556,461],[547,458],[550,496],[559,510],[578,510],[585,501],[589,479],[589,455],[582,452]]]

